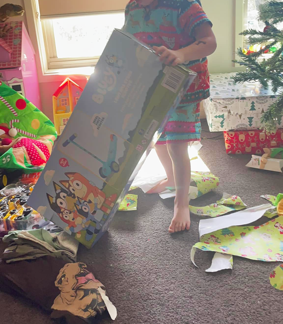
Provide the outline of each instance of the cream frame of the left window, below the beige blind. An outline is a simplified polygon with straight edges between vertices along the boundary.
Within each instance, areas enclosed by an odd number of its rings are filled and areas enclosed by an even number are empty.
[[[44,17],[41,19],[42,33],[45,45],[47,67],[48,69],[64,69],[64,68],[74,68],[74,67],[87,67],[96,66],[99,56],[88,56],[88,57],[64,57],[58,58],[56,52],[55,37],[53,31],[52,19],[63,18],[63,17],[83,17],[89,15],[99,15],[99,14],[111,14],[111,13],[124,13],[123,10],[116,11],[104,11],[104,12],[93,12],[89,14],[75,14],[75,15],[58,15],[54,17]]]

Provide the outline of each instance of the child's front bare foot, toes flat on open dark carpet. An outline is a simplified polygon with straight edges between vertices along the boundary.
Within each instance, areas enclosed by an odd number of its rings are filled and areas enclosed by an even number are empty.
[[[174,206],[174,217],[169,226],[169,233],[175,233],[190,229],[190,211],[188,205]]]

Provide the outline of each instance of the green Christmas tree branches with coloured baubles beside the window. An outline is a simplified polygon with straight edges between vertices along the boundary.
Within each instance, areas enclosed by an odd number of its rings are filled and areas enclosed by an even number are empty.
[[[249,49],[238,49],[239,60],[235,63],[246,67],[245,72],[234,76],[235,83],[259,81],[264,87],[271,86],[277,93],[274,101],[263,114],[261,121],[267,133],[276,130],[283,115],[283,30],[278,25],[283,22],[283,1],[271,0],[259,6],[258,19],[265,23],[263,31],[244,30]],[[273,53],[263,58],[266,53]]]

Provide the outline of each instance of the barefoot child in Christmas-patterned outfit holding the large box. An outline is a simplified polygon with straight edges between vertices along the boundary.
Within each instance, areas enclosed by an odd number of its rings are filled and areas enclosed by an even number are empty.
[[[164,64],[186,64],[198,73],[156,143],[167,179],[148,193],[176,189],[169,233],[190,228],[188,192],[191,180],[188,142],[200,140],[199,103],[209,97],[206,56],[216,49],[211,22],[199,0],[130,0],[124,30],[151,46]]]

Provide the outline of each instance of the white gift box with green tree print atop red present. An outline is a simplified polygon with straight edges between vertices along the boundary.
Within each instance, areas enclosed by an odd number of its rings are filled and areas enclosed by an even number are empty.
[[[203,101],[210,132],[262,128],[263,113],[277,100],[271,87],[259,82],[234,84],[234,74],[210,75],[210,97]],[[283,118],[277,128],[283,128]]]

